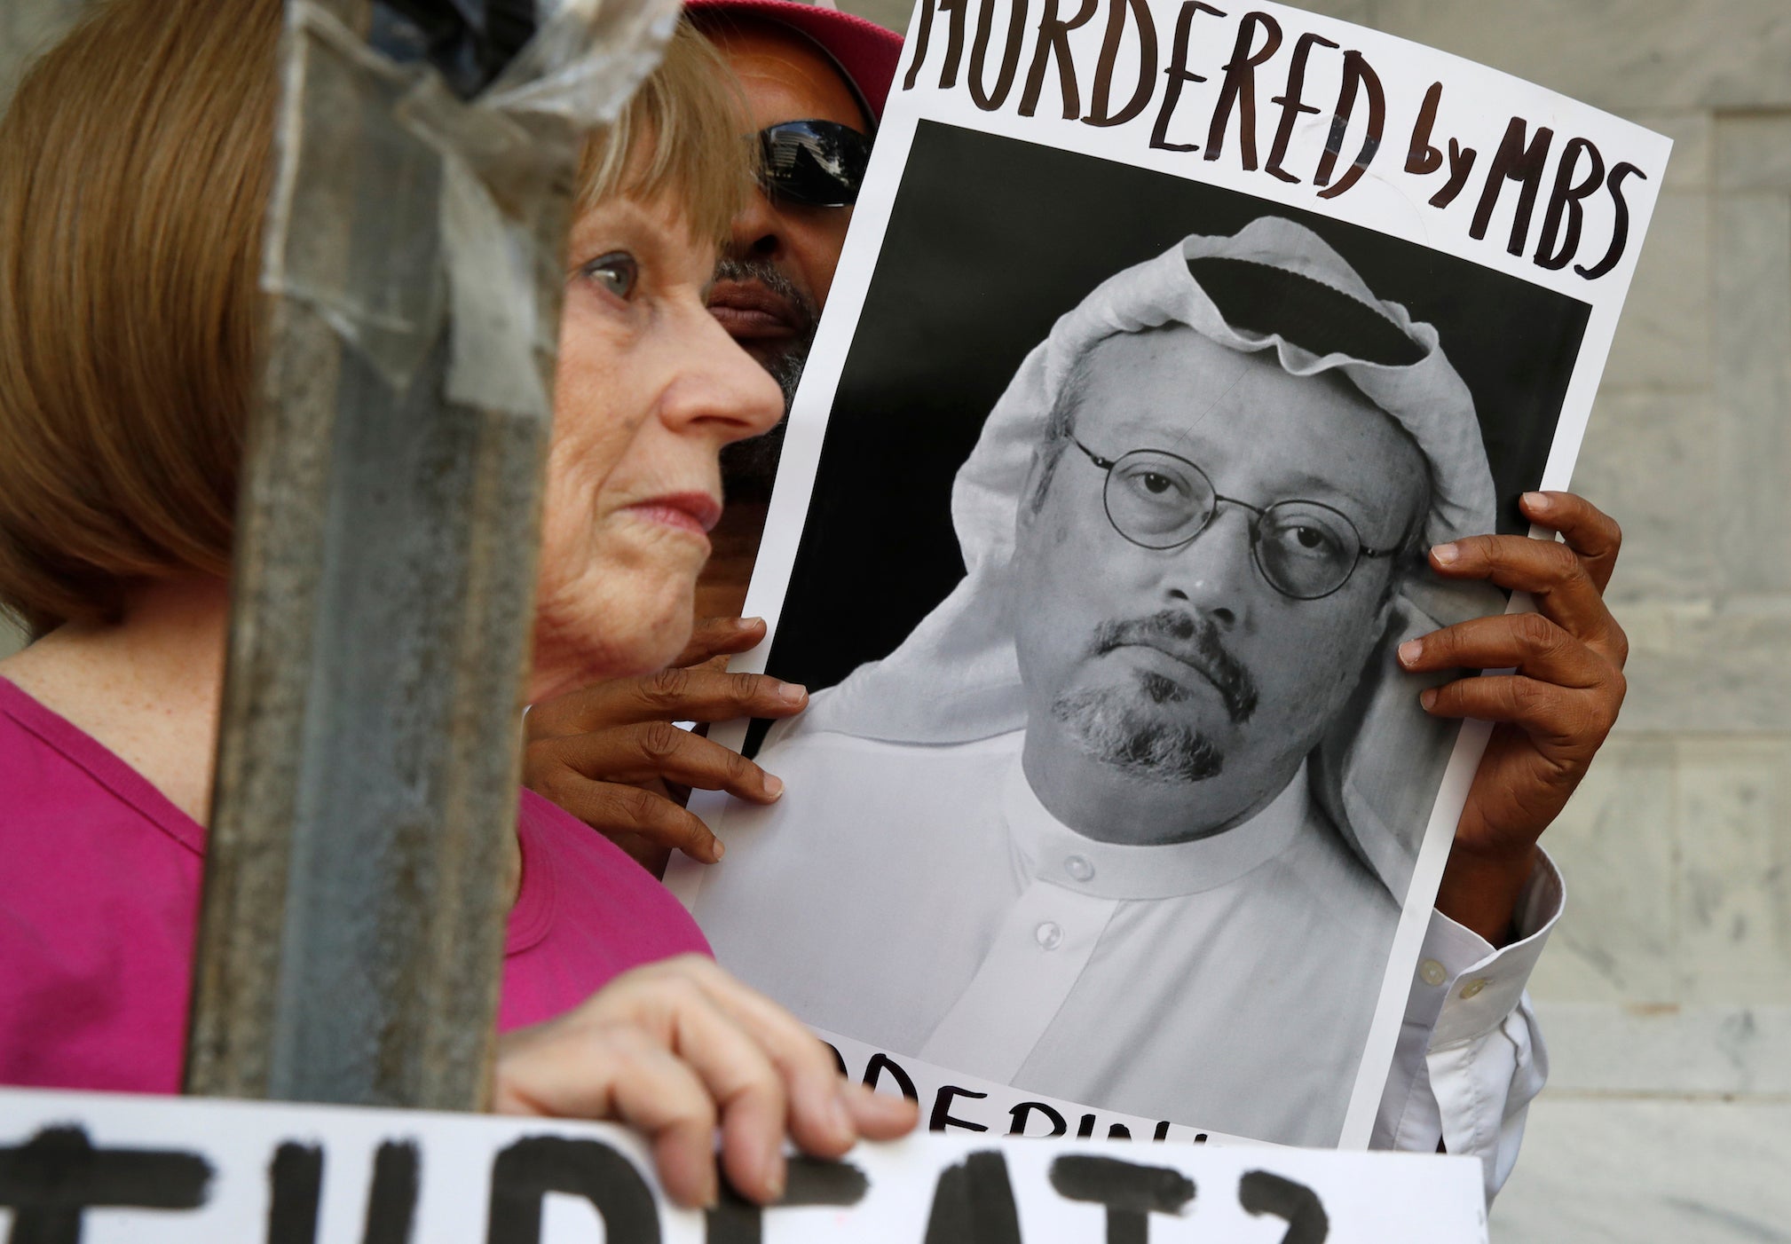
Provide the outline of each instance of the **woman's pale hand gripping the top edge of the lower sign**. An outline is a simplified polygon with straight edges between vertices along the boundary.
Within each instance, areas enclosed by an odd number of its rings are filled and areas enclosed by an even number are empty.
[[[784,1189],[786,1135],[838,1158],[919,1117],[904,1097],[842,1079],[795,1017],[700,956],[636,968],[577,1010],[507,1033],[493,1106],[625,1122],[652,1142],[666,1194],[695,1206],[716,1201],[716,1128],[727,1181],[770,1203]]]

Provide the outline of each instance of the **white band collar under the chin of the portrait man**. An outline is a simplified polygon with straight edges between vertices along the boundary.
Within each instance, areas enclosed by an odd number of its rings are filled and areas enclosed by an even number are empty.
[[[1098,899],[1171,899],[1216,890],[1279,856],[1311,820],[1311,795],[1302,763],[1268,807],[1220,834],[1161,847],[1103,843],[1044,809],[1015,750],[1003,779],[1001,816],[1032,879]]]

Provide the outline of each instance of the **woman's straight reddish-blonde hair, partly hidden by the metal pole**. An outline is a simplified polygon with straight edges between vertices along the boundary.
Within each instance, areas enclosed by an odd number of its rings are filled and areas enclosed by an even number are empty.
[[[107,0],[0,120],[0,609],[109,621],[229,569],[256,379],[279,0]],[[750,186],[738,86],[681,25],[586,147],[580,209],[718,238]]]

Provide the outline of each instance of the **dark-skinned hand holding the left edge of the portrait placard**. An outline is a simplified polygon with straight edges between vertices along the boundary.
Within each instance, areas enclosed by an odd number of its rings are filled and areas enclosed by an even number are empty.
[[[654,675],[616,678],[534,705],[525,720],[523,786],[586,822],[654,873],[673,848],[713,865],[722,843],[684,809],[691,788],[754,804],[783,782],[673,721],[788,718],[808,691],[758,673],[725,673],[729,653],[765,639],[758,618],[697,625],[690,646]]]

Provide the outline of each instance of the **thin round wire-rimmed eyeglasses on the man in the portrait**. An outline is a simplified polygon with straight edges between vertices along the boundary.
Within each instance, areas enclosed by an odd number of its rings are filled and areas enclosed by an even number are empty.
[[[1075,440],[1075,437],[1071,437]],[[1320,501],[1275,501],[1259,508],[1220,496],[1207,473],[1162,449],[1134,449],[1103,458],[1075,440],[1107,473],[1107,521],[1139,548],[1177,550],[1195,542],[1220,505],[1250,510],[1250,553],[1268,585],[1293,600],[1320,600],[1343,587],[1365,557],[1395,550],[1365,548],[1356,524]]]

